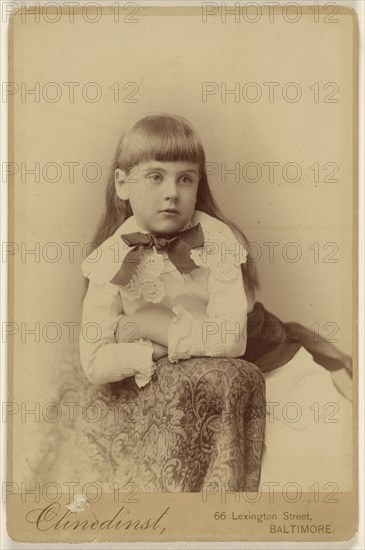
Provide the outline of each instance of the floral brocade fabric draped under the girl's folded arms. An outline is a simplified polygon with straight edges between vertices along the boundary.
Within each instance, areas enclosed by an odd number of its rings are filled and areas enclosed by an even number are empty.
[[[265,435],[265,383],[241,359],[157,363],[151,382],[94,386],[71,352],[57,402],[78,403],[41,427],[33,480],[136,484],[142,492],[199,492],[206,483],[256,491]],[[71,409],[70,409],[71,410]]]

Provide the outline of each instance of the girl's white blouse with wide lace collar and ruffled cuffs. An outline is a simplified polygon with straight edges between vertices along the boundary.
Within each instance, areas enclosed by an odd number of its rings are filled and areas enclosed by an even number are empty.
[[[127,322],[128,315],[146,310],[146,306],[153,310],[154,304],[175,314],[167,334],[171,362],[192,356],[244,354],[247,300],[241,264],[246,261],[246,250],[220,220],[196,210],[189,225],[198,223],[204,245],[191,250],[198,267],[187,274],[176,269],[165,251],[153,248],[143,253],[126,286],[110,282],[131,250],[121,235],[146,233],[134,216],[83,261],[89,287],[83,304],[80,359],[91,383],[116,382],[129,376],[135,376],[140,387],[149,382],[155,368],[151,342],[118,342],[117,327],[123,316]]]

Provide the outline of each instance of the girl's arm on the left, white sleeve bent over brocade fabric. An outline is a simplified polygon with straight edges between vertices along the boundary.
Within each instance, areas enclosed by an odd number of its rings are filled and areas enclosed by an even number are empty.
[[[93,384],[116,382],[137,375],[148,381],[153,372],[154,352],[150,342],[117,342],[115,332],[123,316],[118,294],[107,284],[90,280],[84,299],[80,360],[85,375]]]

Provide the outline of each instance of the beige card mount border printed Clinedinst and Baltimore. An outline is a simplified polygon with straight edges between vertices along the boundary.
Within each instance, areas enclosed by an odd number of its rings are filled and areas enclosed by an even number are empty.
[[[27,11],[29,8],[22,8],[21,11]],[[90,9],[90,8],[89,8]],[[263,13],[268,11],[268,7],[262,6]],[[301,5],[302,13],[309,14],[311,12],[310,6]],[[64,11],[64,9],[62,8]],[[105,11],[104,6],[102,10]],[[274,6],[275,11],[282,10],[282,5]],[[51,12],[51,10],[49,10]],[[75,15],[80,13],[81,8],[75,9]],[[324,13],[322,5],[319,6],[319,13]],[[182,7],[182,6],[139,6],[138,14],[153,15],[153,16],[169,16],[169,15],[200,15],[200,7]],[[9,26],[9,80],[14,80],[14,67],[12,64],[14,55],[14,18],[19,17],[20,12],[11,17]],[[111,15],[110,13],[108,15]],[[217,14],[217,16],[219,13]],[[336,15],[350,16],[354,23],[354,35],[353,35],[353,69],[354,69],[354,82],[353,82],[353,143],[354,143],[354,157],[353,157],[353,169],[354,169],[354,181],[353,181],[353,193],[354,193],[354,211],[353,211],[353,289],[354,295],[352,299],[353,303],[353,359],[354,359],[354,378],[353,378],[353,434],[354,434],[354,458],[353,458],[353,472],[354,472],[354,489],[348,493],[337,493],[339,502],[337,504],[331,504],[331,525],[332,528],[335,525],[335,529],[326,533],[306,534],[306,533],[279,533],[270,535],[270,533],[263,532],[264,524],[249,523],[242,524],[241,521],[236,521],[236,525],[232,522],[215,521],[212,519],[214,513],[225,512],[227,518],[232,514],[237,514],[237,505],[234,504],[234,497],[232,495],[227,496],[227,502],[222,503],[219,495],[211,497],[209,504],[204,503],[202,506],[201,494],[142,494],[138,503],[132,504],[132,512],[134,519],[139,518],[141,524],[146,522],[150,518],[149,527],[137,530],[123,530],[123,528],[115,529],[112,526],[122,519],[123,513],[128,509],[130,501],[127,501],[123,495],[118,503],[114,502],[112,494],[104,494],[102,498],[92,504],[84,513],[80,514],[75,521],[80,522],[80,526],[73,529],[63,529],[62,525],[54,527],[48,530],[38,530],[34,523],[25,521],[25,516],[29,518],[35,517],[35,508],[46,508],[49,503],[23,503],[21,501],[21,495],[16,494],[8,499],[7,502],[7,527],[9,536],[15,541],[21,542],[65,542],[65,543],[80,543],[80,542],[167,542],[167,541],[297,541],[297,542],[316,542],[316,541],[344,541],[350,540],[357,532],[358,529],[358,71],[359,71],[359,21],[355,9],[351,7],[340,6]],[[9,161],[14,160],[14,101],[11,99],[9,104]],[[14,240],[14,177],[9,181],[8,192],[8,207],[9,207],[9,241]],[[8,320],[12,322],[14,320],[14,263],[9,261],[8,266]],[[13,345],[8,345],[8,397],[12,401],[14,397],[13,393],[13,368],[14,368],[14,348]],[[10,418],[8,423],[8,449],[7,449],[7,467],[8,467],[8,481],[13,478],[12,467],[12,448],[14,441],[13,422]],[[239,493],[237,493],[239,495]],[[328,497],[327,493],[319,493],[318,498],[322,500]],[[245,501],[242,496],[240,497],[240,503],[242,509],[240,513],[247,514],[248,510],[245,508]],[[317,506],[316,509],[316,524],[328,525],[327,517],[327,505],[317,503],[313,504],[313,495],[311,493],[304,493],[300,502],[290,504],[285,502],[282,495],[275,496],[275,502],[270,502],[269,495],[263,494],[256,507],[250,504],[250,513],[273,513],[273,506],[275,507],[275,513],[280,514],[282,511],[287,510],[293,514],[306,514],[312,511],[312,506]],[[59,505],[63,506],[65,510],[66,500],[65,495],[59,501]],[[118,518],[115,519],[114,524],[109,524],[110,529],[105,528],[97,531],[91,526],[96,519],[100,522],[109,521],[118,513],[118,511],[124,507],[124,510],[120,512]],[[33,510],[33,512],[32,512]],[[167,510],[167,511],[166,511]],[[166,512],[165,512],[166,511]],[[311,513],[311,512],[310,512]],[[49,511],[51,515],[52,512]],[[163,517],[158,520],[158,517]],[[61,514],[62,516],[62,514]],[[198,521],[197,521],[198,518]],[[126,519],[126,518],[124,518]],[[83,529],[81,523],[85,520],[88,521],[88,528]],[[55,520],[56,521],[56,520]],[[192,525],[194,525],[192,527]],[[248,527],[248,531],[245,529]],[[229,530],[229,533],[227,532]],[[96,538],[97,536],[97,538]]]

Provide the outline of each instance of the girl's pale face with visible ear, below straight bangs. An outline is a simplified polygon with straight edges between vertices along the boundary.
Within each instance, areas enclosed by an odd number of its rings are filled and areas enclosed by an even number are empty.
[[[148,233],[174,233],[195,210],[199,165],[192,162],[140,163],[126,176],[116,170],[119,198],[129,200],[138,225]]]

